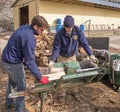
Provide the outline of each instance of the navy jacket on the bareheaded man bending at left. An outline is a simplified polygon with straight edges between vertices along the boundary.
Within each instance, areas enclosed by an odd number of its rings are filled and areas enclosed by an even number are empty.
[[[5,63],[19,64],[25,63],[28,69],[38,80],[41,73],[35,63],[36,39],[34,34],[37,32],[29,25],[18,28],[10,37],[2,53],[2,60]]]

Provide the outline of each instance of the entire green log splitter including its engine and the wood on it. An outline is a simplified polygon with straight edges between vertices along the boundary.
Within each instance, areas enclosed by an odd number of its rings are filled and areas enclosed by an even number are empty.
[[[55,63],[53,68],[56,71],[54,72],[51,71],[51,68],[41,69],[41,72],[44,71],[50,77],[50,82],[47,85],[35,83],[29,90],[13,91],[9,94],[9,98],[25,96],[30,93],[40,93],[40,112],[42,112],[46,93],[53,89],[99,82],[104,76],[107,76],[107,80],[110,80],[110,83],[119,89],[120,54],[109,55],[108,51],[103,50],[96,51],[94,54],[99,59],[98,67],[81,69],[80,62],[78,61]]]

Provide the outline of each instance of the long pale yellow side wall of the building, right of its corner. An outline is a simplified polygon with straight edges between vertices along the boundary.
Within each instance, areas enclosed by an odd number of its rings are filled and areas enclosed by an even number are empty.
[[[94,25],[120,25],[119,11],[81,5],[40,1],[39,14],[43,15],[48,20],[50,25],[55,25],[55,20],[58,18],[63,20],[67,14],[70,14],[75,18],[75,23],[78,26],[88,20],[91,20],[91,24]]]

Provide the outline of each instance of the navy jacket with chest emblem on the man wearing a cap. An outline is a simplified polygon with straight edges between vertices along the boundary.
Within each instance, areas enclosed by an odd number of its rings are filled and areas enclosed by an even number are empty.
[[[62,28],[56,35],[53,42],[53,50],[50,60],[55,61],[58,55],[71,57],[77,54],[78,45],[82,46],[87,54],[92,55],[87,39],[79,27],[74,26],[71,35]]]

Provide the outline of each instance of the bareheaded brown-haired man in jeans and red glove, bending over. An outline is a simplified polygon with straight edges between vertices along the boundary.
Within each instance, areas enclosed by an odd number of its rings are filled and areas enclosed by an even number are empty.
[[[42,16],[35,16],[31,25],[23,25],[10,37],[2,52],[3,68],[8,74],[8,88],[5,107],[10,109],[15,104],[14,112],[28,112],[25,108],[24,97],[8,98],[11,87],[17,91],[26,90],[24,64],[42,84],[49,82],[48,77],[42,76],[35,63],[36,39],[34,35],[41,34],[48,27],[48,23]]]

